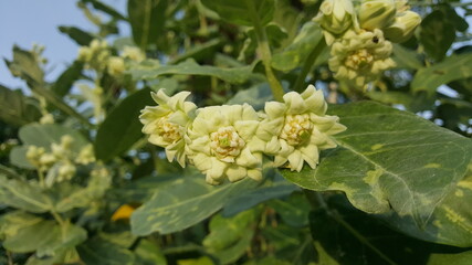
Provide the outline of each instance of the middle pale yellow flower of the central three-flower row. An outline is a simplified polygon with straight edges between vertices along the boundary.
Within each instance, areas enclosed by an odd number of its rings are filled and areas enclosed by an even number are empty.
[[[197,110],[186,141],[189,160],[210,184],[262,179],[263,142],[255,137],[259,116],[248,104]]]

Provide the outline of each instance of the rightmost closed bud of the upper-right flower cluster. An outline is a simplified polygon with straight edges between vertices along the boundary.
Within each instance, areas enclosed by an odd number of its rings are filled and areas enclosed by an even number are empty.
[[[384,29],[384,34],[392,42],[405,42],[421,23],[421,17],[413,11],[405,11],[395,18],[395,22]]]

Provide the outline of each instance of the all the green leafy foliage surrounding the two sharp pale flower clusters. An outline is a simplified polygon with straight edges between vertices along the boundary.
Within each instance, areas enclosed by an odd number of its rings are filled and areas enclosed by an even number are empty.
[[[329,71],[321,3],[80,0],[96,30],[59,31],[96,54],[55,78],[43,47],[13,46],[4,63],[24,86],[0,85],[0,264],[470,264],[471,4],[410,1],[420,26],[363,92]],[[263,119],[307,84],[347,127],[315,169],[268,156],[262,181],[211,187],[141,132],[150,92]]]

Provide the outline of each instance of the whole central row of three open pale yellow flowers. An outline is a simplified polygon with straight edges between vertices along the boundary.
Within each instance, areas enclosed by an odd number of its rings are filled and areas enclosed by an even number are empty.
[[[312,85],[302,94],[287,93],[283,103],[266,103],[261,113],[248,104],[197,108],[186,100],[189,95],[153,93],[158,106],[143,109],[139,119],[169,161],[193,165],[210,184],[261,180],[268,166],[315,168],[319,150],[336,147],[329,136],[346,129],[338,117],[326,115],[323,92]]]

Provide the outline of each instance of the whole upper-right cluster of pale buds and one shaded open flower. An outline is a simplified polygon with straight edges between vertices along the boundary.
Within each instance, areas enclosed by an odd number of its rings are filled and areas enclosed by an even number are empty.
[[[391,42],[408,40],[421,22],[406,0],[325,0],[314,19],[332,45],[329,68],[354,87],[367,84],[395,66]]]

